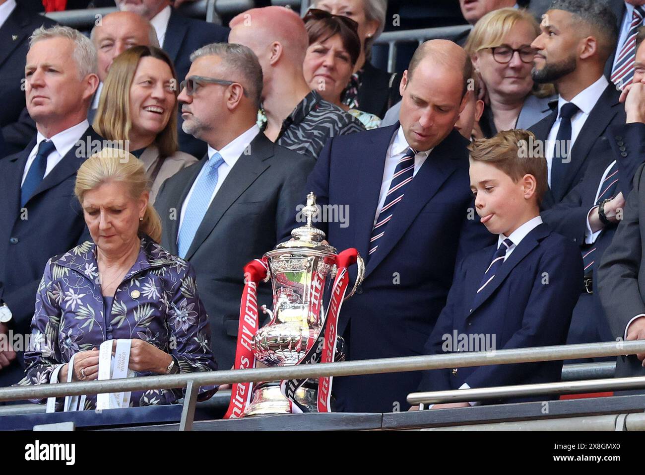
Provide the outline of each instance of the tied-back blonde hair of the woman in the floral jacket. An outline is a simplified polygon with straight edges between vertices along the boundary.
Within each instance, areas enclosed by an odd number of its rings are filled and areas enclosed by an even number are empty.
[[[79,168],[74,194],[83,206],[85,193],[109,182],[125,184],[134,199],[150,191],[150,180],[141,160],[121,149],[105,147],[85,160]],[[139,233],[145,233],[157,243],[161,241],[161,218],[150,201],[143,221],[139,222]]]

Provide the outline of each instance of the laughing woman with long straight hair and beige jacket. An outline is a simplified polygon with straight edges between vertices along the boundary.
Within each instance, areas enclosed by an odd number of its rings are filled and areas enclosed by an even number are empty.
[[[114,59],[108,73],[94,130],[143,162],[152,182],[150,202],[166,178],[197,162],[177,150],[177,79],[161,49],[137,46]]]

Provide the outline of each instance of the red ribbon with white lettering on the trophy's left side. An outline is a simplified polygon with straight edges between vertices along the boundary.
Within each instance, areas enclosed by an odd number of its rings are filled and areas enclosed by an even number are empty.
[[[264,260],[255,259],[244,266],[244,292],[240,305],[237,348],[235,350],[236,370],[255,368],[252,342],[258,327],[257,284],[266,279],[268,266]],[[233,383],[231,400],[224,419],[242,417],[244,408],[253,394],[253,383]]]

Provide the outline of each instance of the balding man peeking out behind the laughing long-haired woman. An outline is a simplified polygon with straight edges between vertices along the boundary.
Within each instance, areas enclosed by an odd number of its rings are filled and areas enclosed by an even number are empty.
[[[99,79],[101,79],[88,112],[88,120],[92,123],[96,109],[99,107],[103,83],[114,58],[134,46],[159,47],[159,41],[157,41],[154,26],[144,17],[133,12],[114,12],[104,16],[101,23],[92,28],[90,39],[94,43],[99,58]]]

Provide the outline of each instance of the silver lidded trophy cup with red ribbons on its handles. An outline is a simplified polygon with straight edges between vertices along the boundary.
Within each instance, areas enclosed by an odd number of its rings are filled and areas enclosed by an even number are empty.
[[[337,253],[324,242],[323,231],[312,226],[319,209],[313,193],[301,213],[306,224],[293,229],[292,239],[278,244],[262,259],[244,268],[244,293],[235,354],[235,369],[295,364],[330,363],[344,354],[336,334],[341,304],[352,297],[365,266],[356,249]],[[357,264],[352,291],[348,267]],[[258,330],[257,285],[271,280],[273,310],[262,307],[270,322]],[[328,304],[324,304],[325,297]],[[317,384],[306,379],[233,385],[227,418],[292,412],[330,412],[331,379]]]

